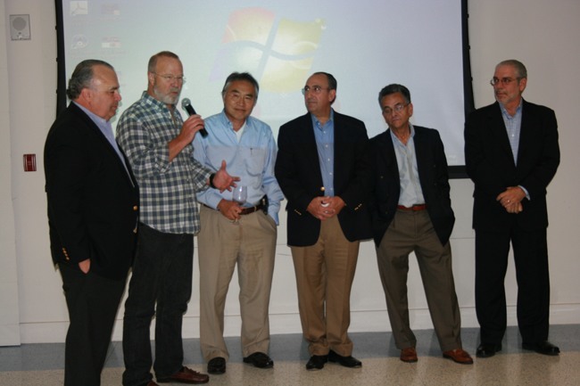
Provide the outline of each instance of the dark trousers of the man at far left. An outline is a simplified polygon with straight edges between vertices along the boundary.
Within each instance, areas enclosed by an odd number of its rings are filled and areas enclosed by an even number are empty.
[[[111,280],[60,264],[70,325],[64,351],[64,385],[98,386],[125,279]]]

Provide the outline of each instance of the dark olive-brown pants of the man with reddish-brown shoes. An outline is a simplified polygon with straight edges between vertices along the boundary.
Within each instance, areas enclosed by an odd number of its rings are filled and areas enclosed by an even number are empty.
[[[397,210],[377,248],[378,273],[397,349],[415,347],[407,301],[409,254],[415,252],[429,313],[443,351],[461,348],[460,307],[455,294],[452,250],[435,234],[427,210]]]

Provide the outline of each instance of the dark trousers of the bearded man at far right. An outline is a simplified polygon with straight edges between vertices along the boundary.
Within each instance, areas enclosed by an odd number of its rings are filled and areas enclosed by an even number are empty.
[[[510,242],[518,281],[518,327],[524,343],[546,341],[550,324],[550,275],[546,229],[476,230],[476,314],[481,341],[498,344],[507,325],[504,280]]]

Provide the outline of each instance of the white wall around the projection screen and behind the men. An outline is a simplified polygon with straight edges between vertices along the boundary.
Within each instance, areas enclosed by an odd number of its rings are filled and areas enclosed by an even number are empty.
[[[550,106],[559,119],[562,162],[548,195],[551,323],[580,323],[580,284],[577,280],[580,274],[577,261],[580,200],[575,195],[580,191],[577,172],[580,165],[576,155],[580,131],[573,126],[576,108],[580,104],[573,88],[580,84],[577,70],[580,46],[576,42],[576,37],[580,36],[577,22],[580,20],[580,2],[473,0],[470,3],[469,30],[476,106],[493,102],[488,81],[493,75],[494,65],[503,59],[517,58],[526,64],[529,72],[526,99]],[[52,266],[48,248],[42,163],[46,132],[54,120],[55,110],[54,2],[0,0],[0,7],[4,10],[4,13],[0,12],[3,26],[7,24],[9,14],[28,13],[32,33],[31,40],[17,42],[10,41],[7,26],[4,26],[4,34],[0,33],[0,39],[3,39],[0,44],[0,105],[3,106],[0,113],[0,344],[3,342],[2,324],[6,320],[7,324],[20,323],[22,342],[63,341],[68,318],[61,279]],[[411,49],[409,56],[402,53],[402,60],[412,60]],[[429,63],[425,63],[426,71],[428,66]],[[459,77],[460,74],[449,76]],[[369,93],[376,93],[382,86],[385,85],[375,85]],[[36,173],[22,171],[24,153],[37,154]],[[465,327],[477,326],[473,293],[472,189],[469,180],[452,180],[452,202],[457,217],[452,234],[453,268]],[[281,220],[282,223],[286,221],[284,214]],[[270,303],[271,331],[299,333],[294,267],[286,247],[285,226],[280,226],[278,232],[278,256]],[[363,243],[352,291],[352,332],[390,330],[375,259],[373,245]],[[195,264],[195,291],[184,323],[185,337],[199,335],[198,277]],[[17,284],[18,301],[14,299],[14,292],[4,290],[4,281],[12,283],[12,288]],[[409,283],[411,324],[417,329],[431,328],[416,264],[411,267]],[[506,283],[509,323],[516,324],[517,286],[513,264]],[[238,335],[236,281],[232,283],[226,311],[226,333]],[[122,316],[122,306],[119,315]],[[120,340],[120,333],[119,324],[113,339]]]

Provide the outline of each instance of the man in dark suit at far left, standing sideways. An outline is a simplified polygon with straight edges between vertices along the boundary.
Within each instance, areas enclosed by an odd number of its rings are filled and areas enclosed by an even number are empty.
[[[48,222],[70,317],[64,384],[94,386],[133,259],[139,192],[109,122],[120,102],[112,66],[80,62],[67,94],[46,138]]]

